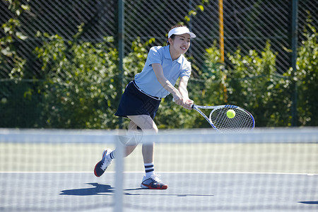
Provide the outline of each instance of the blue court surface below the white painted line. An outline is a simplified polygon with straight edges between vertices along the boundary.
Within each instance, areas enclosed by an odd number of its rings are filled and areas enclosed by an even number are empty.
[[[124,211],[317,211],[318,175],[163,172],[167,190],[124,173]],[[196,179],[196,180],[194,180]],[[113,211],[114,172],[1,172],[0,211]]]

